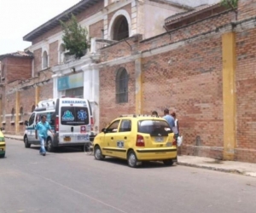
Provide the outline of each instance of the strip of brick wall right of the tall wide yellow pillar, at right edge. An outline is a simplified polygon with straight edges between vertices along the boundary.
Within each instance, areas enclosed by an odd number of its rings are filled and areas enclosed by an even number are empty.
[[[237,159],[256,162],[256,29],[236,34]]]

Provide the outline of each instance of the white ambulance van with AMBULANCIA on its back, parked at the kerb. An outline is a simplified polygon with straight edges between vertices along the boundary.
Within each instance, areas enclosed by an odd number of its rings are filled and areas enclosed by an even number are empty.
[[[35,137],[35,126],[42,115],[46,115],[51,129],[55,132],[54,137],[48,132],[45,144],[48,152],[53,152],[56,147],[81,147],[84,149],[84,143],[92,141],[95,136],[88,100],[79,98],[50,99],[39,101],[29,120],[25,121],[25,147],[40,144],[39,139]]]

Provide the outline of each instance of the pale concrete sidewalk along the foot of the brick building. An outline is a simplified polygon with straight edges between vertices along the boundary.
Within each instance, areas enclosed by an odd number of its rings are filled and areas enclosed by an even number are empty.
[[[4,135],[6,138],[23,141],[22,135]],[[207,170],[218,170],[236,173],[243,176],[256,177],[256,164],[238,161],[221,161],[213,158],[202,158],[197,156],[182,155],[177,157],[179,165],[191,166]]]

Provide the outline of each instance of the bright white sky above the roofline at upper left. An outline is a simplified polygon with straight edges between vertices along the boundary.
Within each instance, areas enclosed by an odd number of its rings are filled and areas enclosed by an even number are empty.
[[[0,55],[23,51],[29,32],[80,0],[0,0]]]

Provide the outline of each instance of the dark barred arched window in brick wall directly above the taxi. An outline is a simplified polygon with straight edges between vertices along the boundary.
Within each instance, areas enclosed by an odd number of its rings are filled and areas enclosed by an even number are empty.
[[[128,102],[128,73],[125,68],[119,68],[115,80],[115,94],[117,103]]]

